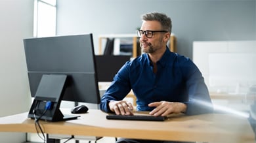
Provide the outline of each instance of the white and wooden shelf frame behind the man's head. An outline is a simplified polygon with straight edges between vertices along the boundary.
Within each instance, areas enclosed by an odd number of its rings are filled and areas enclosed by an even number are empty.
[[[103,54],[102,48],[102,40],[107,38],[131,38],[133,40],[133,57],[137,57],[137,39],[139,38],[136,34],[111,34],[111,35],[100,35],[98,38],[98,53]],[[177,52],[176,50],[176,37],[175,35],[171,34],[169,40],[169,48],[171,52]]]

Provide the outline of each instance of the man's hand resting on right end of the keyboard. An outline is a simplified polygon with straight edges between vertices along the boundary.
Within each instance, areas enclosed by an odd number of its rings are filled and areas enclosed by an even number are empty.
[[[186,104],[184,103],[173,103],[167,101],[154,102],[148,104],[150,107],[156,107],[150,112],[150,115],[154,116],[167,116],[173,113],[181,113],[186,111]]]

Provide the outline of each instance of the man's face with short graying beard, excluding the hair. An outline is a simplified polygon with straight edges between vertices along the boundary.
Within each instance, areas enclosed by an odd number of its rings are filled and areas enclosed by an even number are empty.
[[[161,24],[158,21],[143,21],[140,27],[142,31],[161,31]],[[160,48],[165,48],[165,42],[163,42],[164,33],[153,33],[152,38],[146,37],[145,33],[140,37],[140,47],[142,52],[153,54]]]

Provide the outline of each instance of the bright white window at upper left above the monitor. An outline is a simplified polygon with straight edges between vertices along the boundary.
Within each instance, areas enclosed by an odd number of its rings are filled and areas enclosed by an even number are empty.
[[[56,0],[34,0],[34,37],[56,35]]]

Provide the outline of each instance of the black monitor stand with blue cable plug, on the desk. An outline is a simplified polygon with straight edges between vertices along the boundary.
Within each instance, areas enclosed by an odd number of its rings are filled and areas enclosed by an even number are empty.
[[[79,117],[74,115],[64,116],[60,111],[60,103],[66,88],[67,78],[68,76],[66,74],[43,74],[37,87],[28,118],[43,119],[46,121],[64,121]]]

